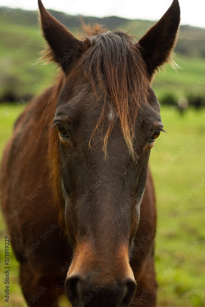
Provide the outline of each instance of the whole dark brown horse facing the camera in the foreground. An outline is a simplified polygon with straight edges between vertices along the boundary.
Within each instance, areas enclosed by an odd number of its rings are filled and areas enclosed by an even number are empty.
[[[137,41],[87,26],[77,39],[38,0],[60,66],[28,103],[2,158],[1,206],[29,306],[156,306],[150,150],[163,130],[151,84],[172,63],[178,0]]]

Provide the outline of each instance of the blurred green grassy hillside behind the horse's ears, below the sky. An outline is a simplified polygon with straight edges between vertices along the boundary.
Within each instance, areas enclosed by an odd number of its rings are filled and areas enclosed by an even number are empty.
[[[83,36],[80,16],[50,12],[74,35]],[[153,24],[151,21],[127,20],[115,16],[83,17],[83,19],[86,23],[98,22],[108,29],[122,28],[128,31],[132,28],[131,33],[138,37],[146,33]],[[37,82],[41,86],[34,95],[52,84],[59,68],[55,70],[54,64],[42,67],[40,63],[35,62],[38,52],[45,45],[38,27],[37,12],[14,9],[6,16],[1,14],[0,37],[0,101],[21,99],[27,91],[33,89]],[[156,76],[153,88],[158,99],[162,101],[165,96],[171,95],[173,100],[178,100],[185,93],[195,97],[203,96],[205,82],[203,81],[199,86],[198,82],[205,72],[205,29],[181,26],[175,55],[176,63],[182,69],[176,73],[168,67],[165,74],[160,72],[159,76]]]

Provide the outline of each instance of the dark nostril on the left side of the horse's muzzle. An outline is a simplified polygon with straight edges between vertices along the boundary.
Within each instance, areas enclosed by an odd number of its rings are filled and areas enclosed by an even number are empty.
[[[69,277],[65,281],[65,293],[72,305],[80,300],[79,283],[80,278],[77,276]]]

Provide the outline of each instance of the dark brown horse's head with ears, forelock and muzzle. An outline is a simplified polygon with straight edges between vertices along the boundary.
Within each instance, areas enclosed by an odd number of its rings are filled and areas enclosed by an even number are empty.
[[[163,129],[151,82],[171,60],[179,2],[139,41],[99,26],[79,40],[38,3],[47,57],[63,73],[54,128],[73,250],[65,291],[73,306],[127,307],[149,154]]]

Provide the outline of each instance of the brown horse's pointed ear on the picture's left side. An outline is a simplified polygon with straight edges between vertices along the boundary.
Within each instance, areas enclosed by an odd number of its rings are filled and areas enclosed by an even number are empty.
[[[64,25],[51,16],[41,0],[38,0],[38,7],[43,36],[50,47],[45,58],[54,60],[61,65],[65,73],[68,73],[80,58],[81,52],[85,49],[85,43],[79,41]]]

